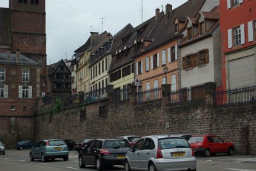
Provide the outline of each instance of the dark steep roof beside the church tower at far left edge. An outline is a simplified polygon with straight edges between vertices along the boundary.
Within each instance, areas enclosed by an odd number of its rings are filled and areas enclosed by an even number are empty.
[[[11,44],[11,10],[0,8],[0,45]]]

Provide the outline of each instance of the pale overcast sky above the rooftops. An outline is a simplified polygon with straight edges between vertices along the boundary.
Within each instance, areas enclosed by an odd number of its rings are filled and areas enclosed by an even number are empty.
[[[177,8],[187,0],[143,0],[143,21],[155,15],[156,8],[165,9],[167,3]],[[9,0],[0,0],[0,7],[8,7]],[[74,50],[81,47],[94,32],[115,35],[131,23],[141,24],[141,0],[46,0],[47,64],[60,59],[72,59]]]

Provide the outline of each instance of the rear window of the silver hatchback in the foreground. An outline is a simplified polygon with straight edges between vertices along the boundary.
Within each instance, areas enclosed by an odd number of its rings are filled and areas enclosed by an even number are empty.
[[[158,140],[161,149],[189,148],[189,144],[184,138],[163,138]]]

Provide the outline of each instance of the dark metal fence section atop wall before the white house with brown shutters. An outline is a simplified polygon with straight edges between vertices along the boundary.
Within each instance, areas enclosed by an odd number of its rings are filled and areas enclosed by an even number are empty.
[[[191,89],[180,89],[168,93],[168,103],[175,105],[179,103],[200,102],[205,100],[205,86],[192,87]]]

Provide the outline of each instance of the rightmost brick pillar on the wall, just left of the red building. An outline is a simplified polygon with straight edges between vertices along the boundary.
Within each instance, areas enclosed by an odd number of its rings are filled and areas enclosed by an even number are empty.
[[[207,82],[205,86],[205,105],[214,106],[216,104],[216,97],[214,92],[216,92],[216,82]]]

